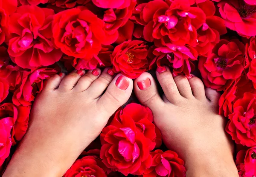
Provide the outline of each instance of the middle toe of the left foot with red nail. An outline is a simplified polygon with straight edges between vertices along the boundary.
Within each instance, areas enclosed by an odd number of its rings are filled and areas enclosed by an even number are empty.
[[[99,68],[96,68],[94,70],[88,70],[84,76],[82,76],[78,83],[76,84],[76,87],[74,90],[78,92],[82,92],[84,90],[87,90],[87,88],[90,87],[90,85],[99,78],[101,75],[101,70]]]

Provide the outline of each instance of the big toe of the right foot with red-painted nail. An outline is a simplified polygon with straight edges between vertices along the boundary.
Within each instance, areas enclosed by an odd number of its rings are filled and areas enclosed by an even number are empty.
[[[134,80],[134,92],[140,103],[151,110],[159,108],[164,103],[157,91],[157,84],[149,73],[142,73]]]

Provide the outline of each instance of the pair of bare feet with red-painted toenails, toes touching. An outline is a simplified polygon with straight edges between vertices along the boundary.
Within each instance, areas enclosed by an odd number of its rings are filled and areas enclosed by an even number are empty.
[[[50,78],[4,177],[64,174],[132,90],[152,110],[166,146],[185,160],[188,176],[238,176],[225,120],[218,115],[219,93],[205,90],[195,76],[173,77],[167,67],[156,75],[164,96],[149,73],[133,81],[121,74],[114,77],[110,68],[96,68]]]

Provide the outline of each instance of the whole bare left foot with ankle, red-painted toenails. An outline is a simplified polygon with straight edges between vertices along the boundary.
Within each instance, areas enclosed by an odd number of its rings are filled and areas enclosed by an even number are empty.
[[[50,78],[33,104],[29,130],[3,177],[62,176],[132,90],[133,81],[121,74],[113,77],[110,68]]]

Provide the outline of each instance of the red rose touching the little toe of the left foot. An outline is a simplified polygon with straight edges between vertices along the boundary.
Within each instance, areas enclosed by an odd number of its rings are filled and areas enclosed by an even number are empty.
[[[29,106],[34,101],[36,93],[40,93],[45,85],[45,79],[58,73],[52,68],[39,68],[32,73],[24,71],[20,87],[15,90],[12,101],[15,105]]]

